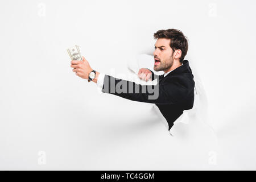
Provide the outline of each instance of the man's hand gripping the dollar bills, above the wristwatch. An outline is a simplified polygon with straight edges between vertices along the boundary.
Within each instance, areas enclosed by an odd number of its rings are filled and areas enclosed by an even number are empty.
[[[71,68],[74,68],[72,71],[76,72],[77,76],[84,79],[88,79],[89,73],[93,71],[90,64],[84,57],[82,57],[82,61],[72,60]]]

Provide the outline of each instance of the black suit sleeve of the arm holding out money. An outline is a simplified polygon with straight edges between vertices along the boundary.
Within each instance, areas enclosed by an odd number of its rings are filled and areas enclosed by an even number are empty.
[[[131,101],[151,104],[175,104],[187,97],[191,91],[185,87],[185,82],[182,80],[166,80],[164,84],[159,86],[159,76],[154,76],[158,79],[157,85],[140,85],[105,75],[102,92],[114,94]]]

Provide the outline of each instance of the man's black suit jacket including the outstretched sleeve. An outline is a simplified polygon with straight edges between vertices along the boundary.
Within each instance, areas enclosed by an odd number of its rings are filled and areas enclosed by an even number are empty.
[[[152,72],[152,80],[155,78],[158,79],[158,84],[152,86],[105,75],[102,92],[132,101],[155,104],[166,118],[170,130],[183,110],[192,109],[195,81],[188,60],[184,60],[183,65],[165,77]]]

